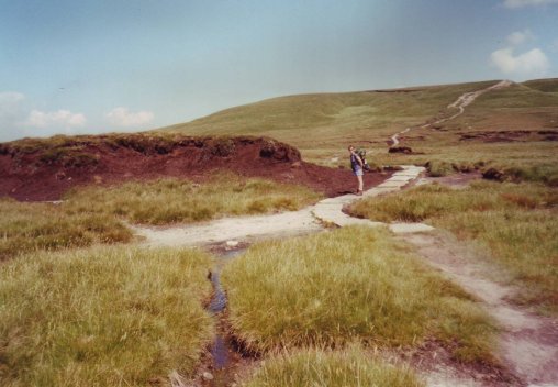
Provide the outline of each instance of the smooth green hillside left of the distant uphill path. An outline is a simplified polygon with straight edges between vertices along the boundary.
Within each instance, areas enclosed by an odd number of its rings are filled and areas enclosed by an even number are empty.
[[[161,130],[268,135],[295,145],[305,158],[320,162],[322,156],[344,150],[353,142],[379,143],[375,146],[384,147],[398,130],[438,114],[464,92],[495,82],[280,97]]]

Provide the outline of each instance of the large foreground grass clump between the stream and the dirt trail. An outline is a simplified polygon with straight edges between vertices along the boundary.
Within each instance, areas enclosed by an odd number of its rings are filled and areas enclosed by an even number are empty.
[[[261,243],[226,266],[222,280],[234,332],[257,352],[436,338],[457,343],[458,360],[491,358],[487,316],[383,230]]]

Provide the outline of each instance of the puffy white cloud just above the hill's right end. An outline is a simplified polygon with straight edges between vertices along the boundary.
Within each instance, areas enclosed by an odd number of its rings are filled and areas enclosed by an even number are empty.
[[[513,48],[496,49],[490,55],[494,67],[507,75],[536,76],[550,68],[548,57],[540,48],[514,55]]]

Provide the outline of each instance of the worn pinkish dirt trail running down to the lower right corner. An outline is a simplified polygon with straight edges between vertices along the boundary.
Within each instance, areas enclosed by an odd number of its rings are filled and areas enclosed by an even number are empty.
[[[448,236],[429,233],[399,237],[416,246],[431,265],[486,305],[503,329],[500,356],[522,382],[558,386],[558,319],[540,317],[507,302],[521,290],[490,279],[498,270]]]

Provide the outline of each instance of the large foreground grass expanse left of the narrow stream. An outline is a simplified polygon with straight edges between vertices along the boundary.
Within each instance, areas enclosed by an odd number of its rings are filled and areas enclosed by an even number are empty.
[[[145,386],[190,375],[212,332],[210,259],[91,247],[0,266],[0,385]]]

